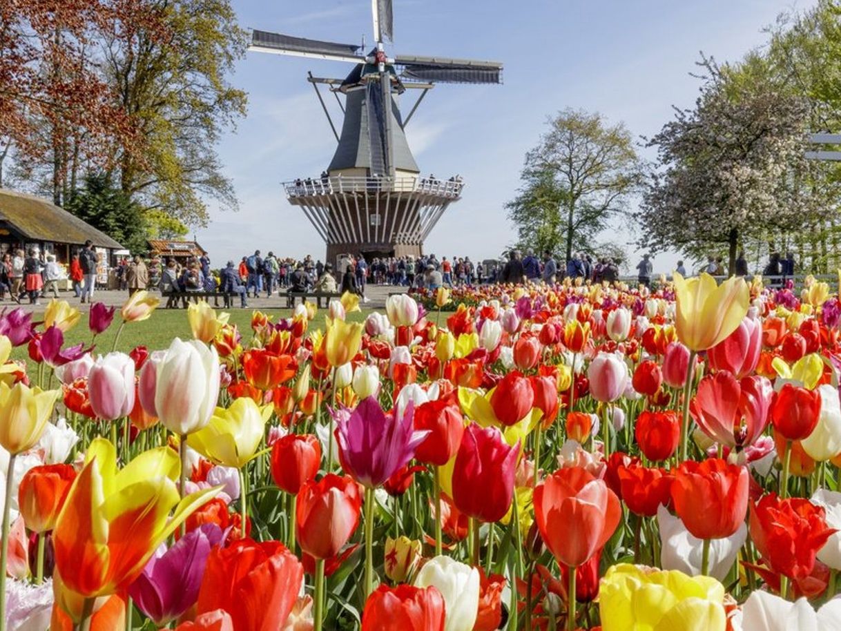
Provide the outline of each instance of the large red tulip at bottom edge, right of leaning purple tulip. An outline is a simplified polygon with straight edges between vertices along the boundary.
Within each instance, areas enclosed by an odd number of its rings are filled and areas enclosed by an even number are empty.
[[[276,631],[304,582],[304,567],[277,541],[242,539],[209,554],[196,612],[222,609],[234,631]]]

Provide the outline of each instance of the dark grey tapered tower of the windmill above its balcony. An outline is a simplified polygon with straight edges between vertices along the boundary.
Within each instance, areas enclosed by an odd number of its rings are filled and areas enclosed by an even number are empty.
[[[358,87],[346,90],[345,120],[341,126],[341,138],[328,171],[346,168],[366,168],[383,175],[383,151],[385,134],[385,109],[383,96],[377,81],[362,82],[362,64],[358,64],[348,75],[344,86],[359,83]],[[403,117],[400,115],[399,97],[391,95],[391,126],[394,148],[394,168],[420,172],[415,157],[403,132]]]

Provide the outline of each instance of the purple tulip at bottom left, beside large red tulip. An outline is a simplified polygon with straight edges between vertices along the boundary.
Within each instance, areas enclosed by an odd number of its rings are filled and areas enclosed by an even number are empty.
[[[161,544],[143,573],[129,587],[135,605],[161,627],[178,618],[198,600],[210,550],[225,538],[214,523],[191,530],[167,550]]]

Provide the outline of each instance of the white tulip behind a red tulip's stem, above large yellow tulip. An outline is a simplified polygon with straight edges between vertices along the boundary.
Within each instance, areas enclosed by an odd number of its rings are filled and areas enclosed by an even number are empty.
[[[704,542],[686,529],[680,517],[669,514],[665,506],[657,510],[657,525],[662,542],[660,560],[663,569],[680,570],[690,576],[701,575]],[[741,523],[730,537],[712,539],[707,553],[708,575],[724,581],[747,538],[748,526]]]

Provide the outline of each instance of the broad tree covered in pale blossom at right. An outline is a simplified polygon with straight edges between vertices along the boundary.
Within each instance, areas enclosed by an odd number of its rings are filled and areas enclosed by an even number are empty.
[[[816,163],[805,156],[807,101],[750,61],[702,61],[695,108],[676,109],[648,142],[658,163],[636,214],[641,246],[699,258],[726,247],[733,273],[745,241],[796,231],[822,207]]]

